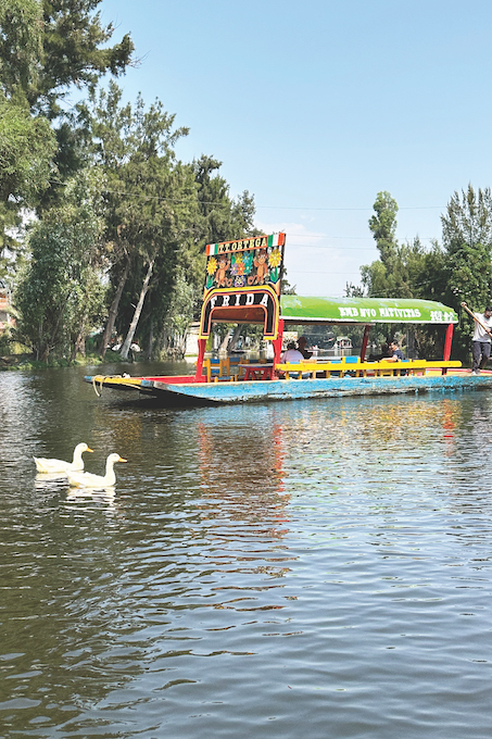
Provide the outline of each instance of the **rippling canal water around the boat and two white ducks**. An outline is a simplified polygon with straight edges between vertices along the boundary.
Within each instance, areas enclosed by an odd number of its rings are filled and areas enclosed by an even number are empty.
[[[490,392],[164,410],[85,372],[0,373],[2,738],[489,739]],[[79,441],[114,490],[37,479]]]

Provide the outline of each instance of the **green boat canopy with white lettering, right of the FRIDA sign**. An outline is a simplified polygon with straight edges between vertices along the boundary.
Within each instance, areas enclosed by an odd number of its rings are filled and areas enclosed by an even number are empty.
[[[452,308],[432,300],[392,298],[302,298],[281,296],[281,317],[287,324],[451,324]]]

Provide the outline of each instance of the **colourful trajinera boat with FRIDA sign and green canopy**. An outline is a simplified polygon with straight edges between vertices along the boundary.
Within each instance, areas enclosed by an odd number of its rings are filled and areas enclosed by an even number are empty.
[[[194,375],[89,375],[85,380],[98,394],[102,388],[137,390],[165,404],[182,405],[492,388],[492,373],[471,375],[450,359],[453,327],[458,322],[452,308],[430,300],[281,295],[285,248],[282,233],[206,246]],[[273,360],[205,358],[214,323],[263,326]],[[358,356],[281,363],[283,331],[289,327],[354,324],[364,327]],[[442,326],[442,360],[368,361],[369,331],[375,324]]]

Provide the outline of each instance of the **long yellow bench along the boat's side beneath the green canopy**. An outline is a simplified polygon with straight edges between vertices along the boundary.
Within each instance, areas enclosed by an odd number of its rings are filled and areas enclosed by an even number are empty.
[[[346,361],[350,360],[350,361]],[[276,364],[276,372],[285,374],[286,379],[290,379],[290,375],[302,377],[302,375],[310,374],[311,378],[319,376],[331,377],[336,373],[338,377],[344,377],[346,373],[355,377],[367,377],[373,375],[376,377],[393,377],[404,375],[426,375],[429,369],[441,369],[441,374],[445,375],[447,369],[461,367],[461,362],[455,361],[430,361],[427,360],[403,360],[399,362],[388,362],[380,360],[379,362],[361,362],[357,359],[355,362],[353,358],[343,356],[338,362],[312,362],[305,360],[299,364],[285,363]]]

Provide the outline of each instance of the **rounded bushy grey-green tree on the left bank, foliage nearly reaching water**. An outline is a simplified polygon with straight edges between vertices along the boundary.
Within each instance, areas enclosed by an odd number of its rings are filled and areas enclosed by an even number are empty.
[[[74,359],[101,320],[105,289],[100,279],[97,175],[84,172],[74,178],[65,205],[52,209],[29,234],[31,259],[14,295],[20,312],[16,337],[42,361],[50,355]]]

